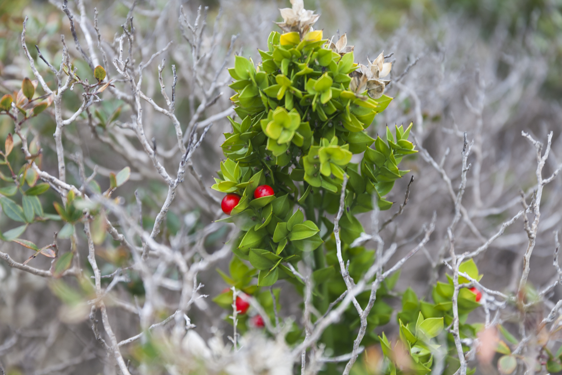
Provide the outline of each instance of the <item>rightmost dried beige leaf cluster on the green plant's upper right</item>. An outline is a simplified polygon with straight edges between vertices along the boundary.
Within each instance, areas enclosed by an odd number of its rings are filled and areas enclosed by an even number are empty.
[[[359,64],[359,70],[351,73],[350,90],[355,93],[367,90],[371,98],[379,99],[390,82],[381,78],[386,77],[391,69],[392,63],[385,63],[383,52],[381,52],[372,63],[369,61],[369,66]]]

